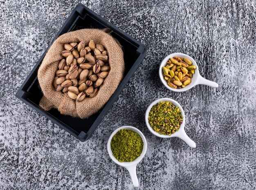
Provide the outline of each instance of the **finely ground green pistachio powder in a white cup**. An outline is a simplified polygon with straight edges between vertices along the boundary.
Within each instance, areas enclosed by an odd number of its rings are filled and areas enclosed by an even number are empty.
[[[121,129],[113,136],[110,145],[119,162],[132,162],[141,155],[144,143],[135,131]]]

